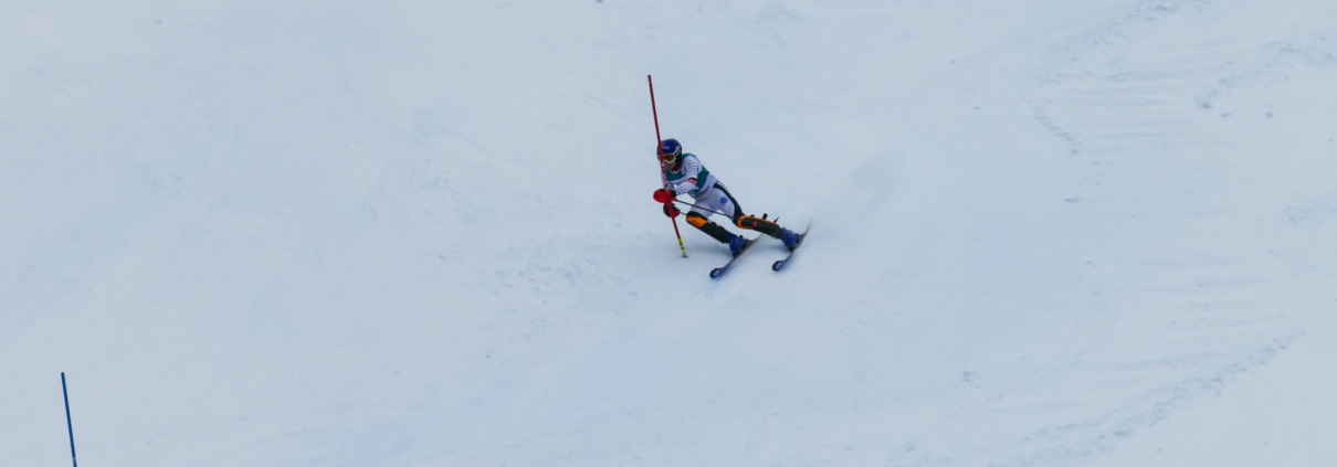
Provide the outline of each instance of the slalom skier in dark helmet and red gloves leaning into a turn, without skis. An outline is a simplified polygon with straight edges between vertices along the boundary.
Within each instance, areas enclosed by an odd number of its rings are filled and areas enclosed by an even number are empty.
[[[687,212],[687,223],[719,240],[719,243],[729,244],[729,252],[734,256],[747,244],[747,239],[710,221],[707,217],[711,213],[723,213],[739,228],[777,238],[790,251],[798,247],[798,234],[766,220],[765,215],[757,217],[743,213],[742,207],[738,205],[738,200],[734,199],[734,195],[729,193],[729,188],[701,164],[697,155],[691,152],[683,153],[682,144],[678,140],[666,139],[659,143],[659,164],[663,167],[664,176],[668,180],[668,188],[655,189],[655,201],[663,203],[666,216],[677,217],[682,213],[682,211],[673,205],[673,201],[678,195],[686,193],[695,200],[691,211]]]

